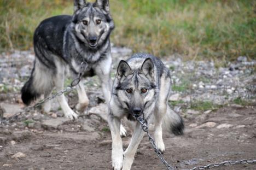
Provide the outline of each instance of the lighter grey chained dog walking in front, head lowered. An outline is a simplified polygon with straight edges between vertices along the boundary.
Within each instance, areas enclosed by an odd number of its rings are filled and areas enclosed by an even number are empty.
[[[131,169],[132,162],[144,131],[139,116],[154,124],[154,139],[164,153],[162,127],[176,135],[183,134],[182,118],[168,106],[171,75],[168,68],[149,54],[135,54],[127,61],[120,61],[112,87],[108,123],[112,135],[113,169]],[[123,151],[119,135],[120,119],[134,121],[134,131],[128,148]]]

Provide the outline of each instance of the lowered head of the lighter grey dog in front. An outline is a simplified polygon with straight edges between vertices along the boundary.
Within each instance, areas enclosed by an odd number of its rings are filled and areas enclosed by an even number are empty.
[[[142,65],[132,69],[129,63],[122,60],[117,70],[118,83],[116,96],[122,107],[138,118],[154,101],[156,85],[154,83],[154,64],[150,58]]]

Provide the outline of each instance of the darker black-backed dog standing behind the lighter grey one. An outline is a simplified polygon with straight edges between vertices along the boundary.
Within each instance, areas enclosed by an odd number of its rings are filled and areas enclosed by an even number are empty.
[[[60,15],[45,19],[34,32],[34,52],[36,59],[31,77],[21,90],[25,104],[34,99],[51,94],[54,87],[63,90],[65,74],[77,77],[80,63],[85,61],[87,67],[83,76],[98,75],[106,102],[109,102],[111,83],[109,36],[114,29],[114,22],[109,12],[108,0],[88,3],[74,0],[74,14]],[[82,81],[77,85],[79,103],[77,110],[83,110],[89,104]],[[65,96],[57,97],[65,116],[77,118],[69,107]],[[51,101],[44,103],[43,111],[49,112]]]

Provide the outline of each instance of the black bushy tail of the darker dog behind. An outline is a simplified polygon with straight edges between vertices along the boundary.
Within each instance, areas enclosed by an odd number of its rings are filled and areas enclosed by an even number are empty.
[[[21,89],[21,99],[22,99],[22,102],[26,105],[29,105],[32,101],[34,101],[40,96],[40,94],[37,93],[35,88],[33,87],[33,80],[34,80],[33,75],[34,75],[34,68],[32,70],[30,78]]]

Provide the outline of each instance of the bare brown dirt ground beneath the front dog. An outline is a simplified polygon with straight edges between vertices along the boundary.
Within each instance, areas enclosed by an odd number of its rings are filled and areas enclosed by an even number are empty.
[[[185,118],[183,136],[164,134],[165,159],[177,169],[226,160],[255,160],[255,109],[233,105]],[[0,169],[112,169],[110,132],[72,131],[76,124],[77,121],[68,122],[59,130],[44,131],[2,127]],[[97,124],[98,128],[102,125],[107,126],[103,121]],[[130,136],[129,133],[123,138],[124,147],[127,147]],[[24,153],[25,157],[11,157],[18,152]],[[139,145],[132,169],[165,169],[146,136]],[[216,169],[256,169],[256,164]]]

